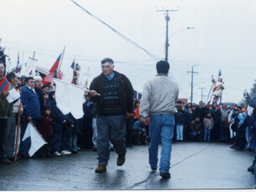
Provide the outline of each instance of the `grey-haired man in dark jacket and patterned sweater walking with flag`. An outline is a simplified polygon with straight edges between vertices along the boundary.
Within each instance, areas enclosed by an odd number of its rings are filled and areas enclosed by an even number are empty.
[[[114,70],[111,58],[102,60],[102,74],[90,84],[90,101],[97,102],[97,151],[98,167],[96,173],[106,172],[110,158],[109,140],[118,154],[117,165],[126,160],[126,119],[134,110],[134,89],[124,74]],[[100,94],[100,95],[98,95]]]

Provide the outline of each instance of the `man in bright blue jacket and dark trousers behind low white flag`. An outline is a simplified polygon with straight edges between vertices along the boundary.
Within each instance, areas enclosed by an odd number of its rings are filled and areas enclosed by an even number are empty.
[[[22,105],[26,106],[23,108],[25,114],[25,120],[21,125],[21,142],[19,146],[18,154],[22,158],[30,158],[28,151],[30,150],[31,140],[30,137],[22,141],[22,138],[26,131],[26,126],[29,122],[37,125],[38,118],[41,118],[40,103],[38,101],[38,94],[34,90],[34,78],[28,77],[25,79],[25,86],[22,86]]]

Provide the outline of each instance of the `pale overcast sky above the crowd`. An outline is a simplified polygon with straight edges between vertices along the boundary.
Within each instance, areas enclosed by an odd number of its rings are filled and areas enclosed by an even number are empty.
[[[92,78],[101,73],[100,62],[109,57],[114,70],[126,74],[134,90],[156,74],[155,64],[165,58],[166,20],[156,10],[170,12],[170,76],[178,82],[179,98],[190,102],[191,66],[194,75],[193,101],[208,95],[211,75],[222,70],[225,90],[222,102],[240,102],[244,89],[256,79],[255,0],[75,0],[85,10],[153,54],[126,42],[71,1],[1,1],[1,46],[10,52],[12,66],[17,54],[21,62],[38,59],[38,66],[50,69],[64,46],[65,73],[75,57],[82,73]],[[185,30],[188,26],[194,29]],[[180,30],[180,31],[179,31]],[[176,33],[179,31],[178,33]],[[10,48],[10,50],[9,50]],[[188,66],[187,66],[188,65]],[[205,83],[203,83],[205,82]],[[161,93],[159,93],[161,94]],[[207,98],[207,97],[206,97]]]

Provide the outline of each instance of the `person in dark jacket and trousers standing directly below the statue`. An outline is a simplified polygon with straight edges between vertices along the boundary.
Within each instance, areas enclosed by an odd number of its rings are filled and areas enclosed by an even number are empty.
[[[219,142],[222,111],[218,108],[217,102],[213,102],[212,106],[213,108],[210,110],[210,116],[214,118],[214,128],[211,131],[211,139],[215,142]]]

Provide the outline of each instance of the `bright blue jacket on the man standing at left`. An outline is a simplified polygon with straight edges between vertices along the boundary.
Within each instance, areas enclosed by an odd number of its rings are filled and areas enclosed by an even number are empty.
[[[34,93],[27,86],[22,86],[22,105],[26,117],[41,118],[40,103],[38,101],[38,94]]]

